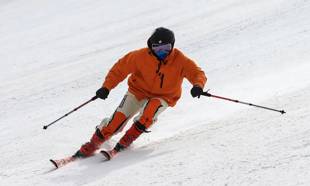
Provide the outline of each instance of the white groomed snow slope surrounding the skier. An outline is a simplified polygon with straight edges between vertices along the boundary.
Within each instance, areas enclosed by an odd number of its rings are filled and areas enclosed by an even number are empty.
[[[310,185],[310,1],[0,1],[0,185]],[[115,62],[167,26],[205,71],[133,146],[56,170],[126,93]],[[124,131],[102,145],[113,148]]]

